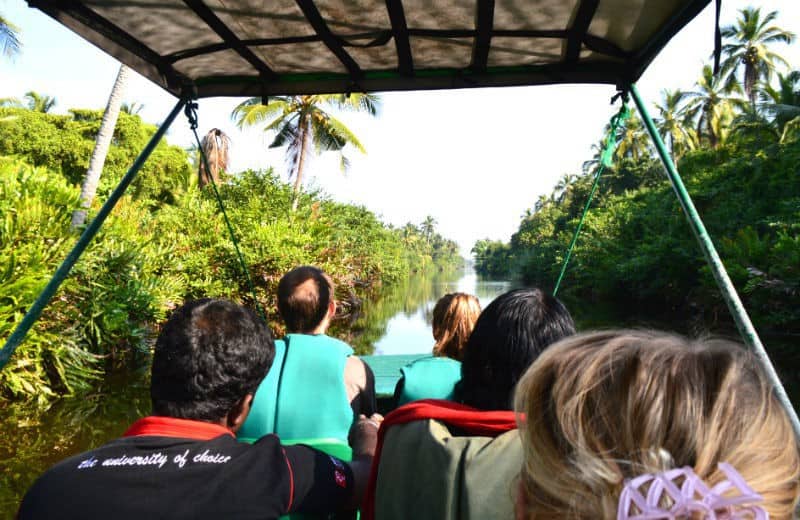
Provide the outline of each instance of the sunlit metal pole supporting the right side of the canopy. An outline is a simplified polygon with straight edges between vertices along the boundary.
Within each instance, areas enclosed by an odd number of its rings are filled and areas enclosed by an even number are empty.
[[[672,158],[670,157],[669,153],[667,153],[667,147],[664,145],[664,142],[661,140],[661,136],[658,135],[658,132],[656,131],[653,120],[650,118],[650,114],[647,112],[647,108],[642,102],[642,98],[639,96],[639,91],[636,89],[636,85],[631,85],[630,92],[633,96],[634,103],[636,103],[636,108],[639,109],[639,114],[642,116],[642,121],[644,121],[645,127],[647,128],[647,133],[650,134],[653,144],[655,144],[656,150],[658,151],[658,155],[661,158],[661,162],[664,164],[664,168],[667,170],[667,176],[672,183],[675,194],[678,196],[678,201],[680,202],[681,207],[686,214],[686,218],[689,220],[689,225],[692,228],[697,241],[700,243],[700,249],[703,250],[706,261],[711,268],[711,272],[714,274],[714,279],[717,282],[717,286],[722,292],[723,298],[725,298],[725,303],[728,305],[728,310],[733,315],[733,319],[736,322],[736,327],[739,329],[739,334],[741,334],[744,341],[753,350],[756,357],[761,362],[762,367],[767,372],[767,376],[770,378],[775,388],[775,394],[778,397],[778,400],[789,414],[789,418],[792,421],[792,426],[794,427],[795,435],[800,439],[800,420],[798,420],[797,412],[792,406],[791,401],[789,401],[789,396],[786,394],[786,390],[783,388],[783,384],[778,377],[778,373],[775,371],[775,367],[772,365],[772,361],[769,359],[767,351],[764,350],[764,345],[761,344],[761,340],[759,339],[758,334],[753,327],[753,323],[750,321],[750,317],[747,315],[747,311],[745,310],[744,305],[742,305],[741,299],[739,299],[736,288],[733,286],[731,279],[728,277],[728,273],[725,271],[725,266],[722,264],[722,260],[717,254],[717,250],[711,241],[711,237],[708,235],[705,225],[700,219],[697,209],[694,207],[694,203],[692,202],[692,198],[689,196],[689,192],[686,191],[686,187],[683,185],[681,176],[678,173],[678,170],[675,168]]]

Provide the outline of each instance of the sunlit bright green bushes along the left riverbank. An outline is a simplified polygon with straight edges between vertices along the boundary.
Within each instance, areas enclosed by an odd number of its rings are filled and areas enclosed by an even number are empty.
[[[0,108],[0,341],[76,240],[70,216],[101,117],[94,110],[63,116]],[[154,131],[138,116],[120,113],[100,200]],[[460,262],[456,244],[432,226],[392,229],[363,207],[319,192],[295,194],[271,170],[221,173],[220,180],[257,298],[277,334],[277,282],[296,265],[330,273],[343,309],[355,312],[382,284]],[[213,192],[198,188],[184,150],[161,142],[0,371],[0,401],[44,404],[92,389],[116,368],[142,364],[169,310],[203,296],[254,305]]]

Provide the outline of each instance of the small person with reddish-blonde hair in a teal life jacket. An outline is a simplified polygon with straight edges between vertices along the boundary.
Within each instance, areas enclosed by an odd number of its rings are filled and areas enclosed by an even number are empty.
[[[400,369],[394,390],[396,406],[419,399],[452,399],[461,379],[464,345],[481,313],[478,299],[466,293],[445,294],[433,308],[433,356]]]

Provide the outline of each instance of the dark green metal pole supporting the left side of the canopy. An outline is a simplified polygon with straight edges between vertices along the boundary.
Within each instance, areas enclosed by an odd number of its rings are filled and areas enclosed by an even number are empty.
[[[167,129],[169,129],[172,122],[175,120],[178,114],[181,113],[181,110],[186,102],[186,99],[181,98],[158,130],[156,130],[156,133],[139,154],[139,157],[136,158],[136,161],[128,170],[128,173],[122,177],[122,180],[119,181],[119,184],[108,197],[108,200],[105,202],[105,204],[103,204],[103,207],[100,208],[100,211],[97,212],[97,215],[83,230],[83,233],[81,233],[81,236],[75,243],[72,251],[69,252],[67,257],[58,267],[55,274],[53,274],[53,277],[39,294],[39,297],[36,298],[36,301],[33,302],[33,305],[31,305],[31,307],[28,309],[28,312],[25,313],[25,316],[22,318],[22,321],[19,322],[17,328],[14,329],[14,332],[12,332],[8,337],[5,345],[3,345],[3,349],[0,350],[0,369],[2,369],[6,363],[8,363],[11,355],[14,353],[20,343],[22,343],[22,340],[25,339],[25,335],[42,314],[42,311],[47,306],[48,302],[56,293],[58,288],[61,286],[61,283],[67,278],[72,266],[75,265],[75,262],[78,261],[78,258],[80,258],[81,254],[83,254],[83,251],[89,245],[89,242],[92,241],[94,236],[100,230],[100,227],[103,225],[103,222],[105,222],[106,217],[108,217],[109,213],[111,213],[111,210],[114,209],[114,206],[116,206],[119,199],[122,198],[122,195],[125,193],[125,190],[128,188],[130,183],[133,182],[133,179],[136,178],[136,174],[139,173],[139,170],[142,168],[145,161],[147,161],[147,158],[155,149],[156,145],[158,145],[158,142],[162,137],[164,137],[164,134],[167,132]]]

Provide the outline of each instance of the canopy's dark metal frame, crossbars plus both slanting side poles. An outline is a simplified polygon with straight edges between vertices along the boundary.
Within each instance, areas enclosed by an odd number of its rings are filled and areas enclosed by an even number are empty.
[[[709,0],[687,0],[687,3],[675,14],[670,22],[651,38],[647,45],[636,53],[626,53],[612,42],[592,36],[588,32],[592,16],[598,8],[599,0],[579,1],[572,25],[566,31],[512,31],[503,32],[493,26],[494,1],[478,0],[476,4],[475,29],[470,31],[435,31],[410,29],[401,0],[386,0],[386,9],[391,20],[391,31],[370,34],[371,44],[386,44],[394,39],[397,51],[396,68],[391,71],[365,71],[347,51],[347,45],[337,37],[326,24],[325,19],[312,0],[297,0],[314,34],[305,37],[284,38],[278,40],[259,39],[241,40],[236,34],[201,0],[184,0],[186,6],[200,17],[211,30],[222,39],[222,43],[204,47],[186,49],[173,55],[162,56],[147,47],[134,36],[128,34],[113,23],[99,16],[84,3],[77,1],[30,0],[32,6],[38,7],[62,24],[70,27],[118,59],[136,69],[146,77],[161,85],[179,97],[179,101],[169,113],[165,121],[145,146],[142,153],[109,199],[102,206],[95,218],[85,228],[72,251],[56,270],[53,278],[44,288],[34,304],[28,309],[22,321],[9,336],[0,350],[0,369],[6,365],[11,355],[25,338],[25,335],[39,318],[47,303],[58,287],[69,275],[72,266],[91,242],[126,188],[135,178],[139,169],[149,157],[158,141],[164,136],[169,126],[180,111],[196,96],[212,95],[272,95],[272,94],[313,94],[390,90],[424,90],[461,87],[487,87],[510,85],[535,85],[545,83],[591,82],[612,83],[622,91],[623,95],[633,97],[648,133],[656,146],[658,155],[664,165],[667,176],[672,183],[675,194],[687,217],[690,227],[698,240],[700,249],[712,270],[715,281],[722,293],[743,340],[751,347],[771,379],[776,395],[786,408],[795,434],[800,438],[800,420],[789,401],[788,395],[766,353],[753,324],[747,315],[741,299],[736,292],[725,267],[705,229],[700,215],[694,207],[689,193],[686,191],[678,170],[672,162],[667,149],[656,131],[655,125],[639,95],[634,81],[655,57],[658,51],[674,36],[674,34],[705,7]],[[98,2],[109,3],[109,2]],[[114,2],[110,2],[114,3]],[[719,7],[719,4],[717,4]],[[83,30],[80,30],[83,28]],[[88,30],[86,29],[88,28]],[[438,37],[469,36],[474,38],[470,66],[463,70],[418,70],[414,67],[409,38],[414,35]],[[490,52],[490,41],[494,36],[565,38],[566,49],[564,59],[555,64],[545,66],[516,66],[493,68],[487,65]],[[317,41],[323,42],[330,52],[345,67],[346,74],[307,73],[282,75],[270,68],[263,60],[250,50],[252,45],[277,45]],[[582,46],[594,52],[612,56],[621,60],[617,63],[579,63]],[[240,57],[252,65],[256,74],[248,77],[201,77],[187,78],[174,67],[180,59],[191,56],[232,49]]]

